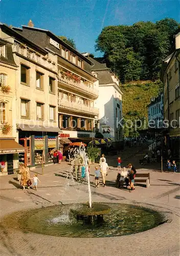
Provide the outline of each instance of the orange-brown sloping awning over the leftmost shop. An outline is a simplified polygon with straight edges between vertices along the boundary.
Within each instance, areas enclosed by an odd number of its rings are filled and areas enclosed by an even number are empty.
[[[14,139],[0,139],[0,155],[20,152],[25,152],[25,148]]]

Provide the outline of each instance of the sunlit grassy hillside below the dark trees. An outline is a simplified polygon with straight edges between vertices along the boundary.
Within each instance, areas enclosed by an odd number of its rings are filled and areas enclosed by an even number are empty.
[[[121,85],[123,91],[123,117],[127,120],[142,120],[146,118],[148,121],[148,108],[147,105],[150,103],[150,98],[158,96],[159,92],[162,91],[162,83],[157,80],[152,81],[134,81]],[[144,126],[142,127],[142,129]],[[131,129],[131,133],[134,129]],[[129,129],[125,127],[124,136],[129,135]]]

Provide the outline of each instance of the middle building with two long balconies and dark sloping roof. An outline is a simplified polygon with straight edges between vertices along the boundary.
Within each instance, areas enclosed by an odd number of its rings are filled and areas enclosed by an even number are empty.
[[[14,29],[56,58],[60,138],[93,138],[99,115],[95,105],[99,86],[98,79],[84,69],[93,65],[91,60],[48,30],[28,26]]]

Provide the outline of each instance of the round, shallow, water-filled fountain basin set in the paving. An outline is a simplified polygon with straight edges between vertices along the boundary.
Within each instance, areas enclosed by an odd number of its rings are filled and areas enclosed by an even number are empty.
[[[140,206],[118,203],[57,205],[19,211],[3,219],[4,225],[58,237],[102,238],[142,232],[158,226],[163,217],[159,212]],[[72,214],[73,212],[73,214]],[[103,215],[103,223],[84,225],[77,214]],[[93,217],[96,218],[96,217]]]

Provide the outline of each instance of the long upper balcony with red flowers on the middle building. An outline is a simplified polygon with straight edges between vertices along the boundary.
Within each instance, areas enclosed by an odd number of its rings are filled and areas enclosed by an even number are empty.
[[[73,79],[68,79],[66,76],[62,76],[60,72],[58,72],[58,81],[62,84],[65,84],[66,86],[69,86],[71,88],[74,88],[76,90],[79,90],[81,92],[84,92],[86,94],[93,95],[94,97],[98,97],[99,92],[95,88],[88,87],[82,82],[76,82]]]

